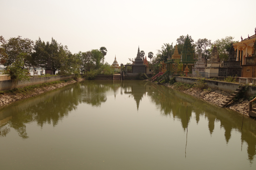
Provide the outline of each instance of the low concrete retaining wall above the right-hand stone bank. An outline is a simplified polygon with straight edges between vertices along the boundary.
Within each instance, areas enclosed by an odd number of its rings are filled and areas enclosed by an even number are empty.
[[[187,84],[194,84],[196,81],[196,78],[186,78],[186,77],[176,77],[176,82],[181,83],[187,83]],[[222,82],[222,81],[213,81],[213,80],[204,80],[205,83],[207,83],[207,87],[210,87],[211,89],[216,90],[222,90],[225,92],[234,92],[237,88],[239,88],[239,85],[236,83],[228,83],[228,82]],[[252,96],[256,93],[256,86],[249,85],[249,89],[245,92],[246,96]]]

